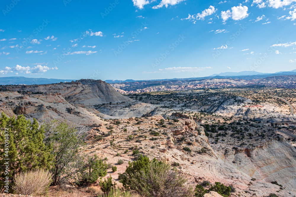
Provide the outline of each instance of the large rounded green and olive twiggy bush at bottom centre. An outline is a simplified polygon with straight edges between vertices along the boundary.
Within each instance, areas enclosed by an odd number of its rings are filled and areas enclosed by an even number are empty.
[[[187,178],[165,162],[140,156],[137,161],[129,162],[126,172],[119,174],[120,183],[126,189],[139,194],[154,196],[192,196],[192,188],[185,186]]]

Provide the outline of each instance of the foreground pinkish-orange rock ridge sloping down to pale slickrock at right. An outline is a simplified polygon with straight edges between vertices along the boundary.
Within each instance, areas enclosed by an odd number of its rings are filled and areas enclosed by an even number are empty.
[[[234,186],[237,189],[235,196],[268,196],[270,193],[296,196],[293,186],[296,153],[286,141],[274,139],[253,150],[234,150],[232,146],[221,153],[211,147],[203,127],[196,125],[195,121],[179,118],[179,122],[166,120],[162,126],[162,118],[129,118],[120,120],[119,125],[108,121],[107,125],[95,127],[88,136],[91,142],[89,154],[107,157],[108,162],[115,164],[118,171],[107,175],[115,180],[118,180],[118,173],[125,171],[128,161],[137,157],[132,155],[132,150],[138,149],[150,159],[156,157],[172,164],[178,163],[180,167],[177,167],[189,175],[193,186],[196,181],[207,180]],[[113,141],[112,145],[110,141]],[[124,164],[117,165],[118,159],[122,159]],[[271,181],[283,184],[284,189],[280,190]]]

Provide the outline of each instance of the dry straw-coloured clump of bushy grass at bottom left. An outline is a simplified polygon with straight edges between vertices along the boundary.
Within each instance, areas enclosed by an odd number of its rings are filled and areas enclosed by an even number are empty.
[[[37,169],[16,175],[12,188],[18,194],[39,196],[46,193],[51,183],[52,174],[49,170]]]

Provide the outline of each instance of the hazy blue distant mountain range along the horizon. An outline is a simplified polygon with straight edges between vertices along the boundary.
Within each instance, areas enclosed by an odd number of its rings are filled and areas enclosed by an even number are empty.
[[[149,82],[149,81],[184,81],[184,80],[200,80],[200,79],[261,79],[269,76],[285,76],[285,75],[296,75],[296,69],[292,71],[280,71],[276,73],[260,73],[256,71],[242,71],[242,72],[224,72],[220,74],[213,74],[205,77],[194,77],[194,78],[174,78],[174,79],[151,79],[151,80],[106,80],[105,82],[114,83],[126,83],[126,82]],[[11,84],[54,84],[59,82],[71,82],[76,79],[46,79],[46,78],[27,78],[22,76],[11,76],[11,77],[0,77],[0,85],[11,85]]]

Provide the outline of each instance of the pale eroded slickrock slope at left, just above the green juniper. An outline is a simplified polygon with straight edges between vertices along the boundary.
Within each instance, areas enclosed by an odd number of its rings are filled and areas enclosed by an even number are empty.
[[[57,119],[88,126],[102,122],[93,113],[67,102],[59,93],[1,91],[0,97],[0,112],[8,116],[23,114],[30,120],[36,118],[40,122]]]

